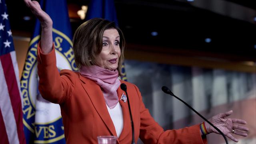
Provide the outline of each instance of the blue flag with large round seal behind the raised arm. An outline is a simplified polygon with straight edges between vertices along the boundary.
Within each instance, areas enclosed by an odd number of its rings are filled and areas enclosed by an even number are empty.
[[[72,32],[66,0],[41,0],[40,6],[53,21],[53,42],[58,70],[78,70],[72,49]],[[21,78],[24,98],[23,123],[27,144],[65,143],[60,106],[44,100],[38,91],[37,46],[41,26],[36,20]]]

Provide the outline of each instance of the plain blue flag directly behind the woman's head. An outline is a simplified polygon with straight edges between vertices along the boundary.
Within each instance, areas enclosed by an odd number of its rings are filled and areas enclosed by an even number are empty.
[[[86,13],[86,20],[92,18],[104,18],[111,22],[115,22],[118,26],[114,0],[91,0]],[[122,64],[121,80],[127,81],[124,63]]]

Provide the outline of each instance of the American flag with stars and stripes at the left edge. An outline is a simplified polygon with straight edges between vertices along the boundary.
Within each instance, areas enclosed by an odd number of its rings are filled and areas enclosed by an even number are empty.
[[[0,143],[26,143],[18,64],[5,0],[0,0]]]

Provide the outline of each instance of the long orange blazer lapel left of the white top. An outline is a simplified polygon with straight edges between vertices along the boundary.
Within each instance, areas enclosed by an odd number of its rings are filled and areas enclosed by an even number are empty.
[[[88,96],[90,97],[90,100],[92,101],[94,108],[102,118],[107,128],[110,130],[111,134],[113,136],[116,136],[116,129],[108,113],[106,102],[103,97],[100,86],[96,84],[94,81],[88,78],[84,78],[84,76],[81,76],[80,74],[79,74],[79,78],[82,81],[81,84],[84,90],[86,91],[86,93],[88,94]]]

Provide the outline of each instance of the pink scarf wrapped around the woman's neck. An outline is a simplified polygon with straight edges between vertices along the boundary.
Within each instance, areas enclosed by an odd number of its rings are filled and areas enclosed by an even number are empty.
[[[103,92],[106,104],[110,109],[118,104],[118,95],[116,90],[120,86],[118,79],[118,70],[108,70],[100,66],[82,66],[80,74],[98,84]]]

